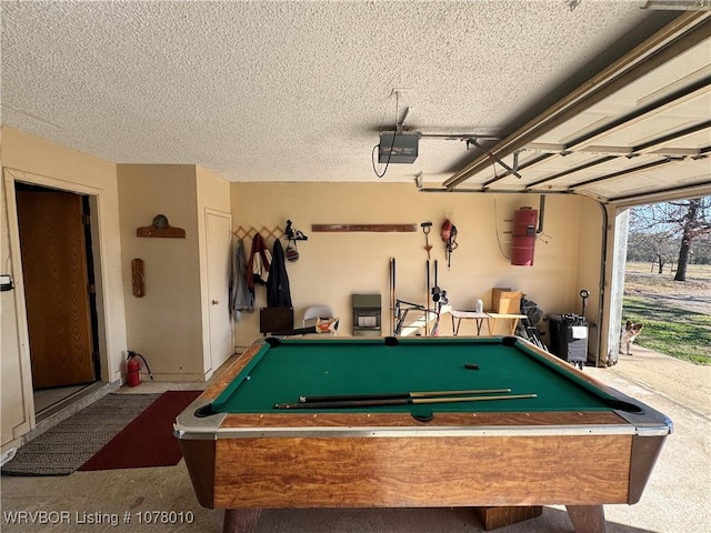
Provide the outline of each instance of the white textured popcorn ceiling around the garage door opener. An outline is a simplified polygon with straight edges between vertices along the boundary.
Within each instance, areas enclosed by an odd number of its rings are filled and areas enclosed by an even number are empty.
[[[405,130],[503,138],[680,14],[574,3],[3,1],[2,123],[232,181],[439,187],[465,142],[373,172],[405,107]]]

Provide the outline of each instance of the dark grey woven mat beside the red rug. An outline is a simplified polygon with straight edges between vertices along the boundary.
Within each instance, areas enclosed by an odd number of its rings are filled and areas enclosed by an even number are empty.
[[[18,450],[3,475],[68,475],[160,394],[107,394]]]

